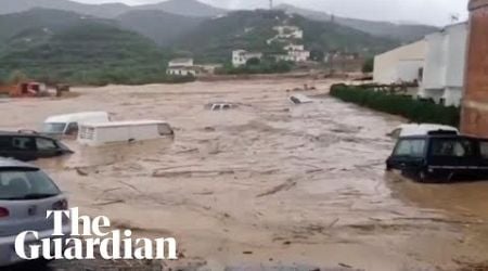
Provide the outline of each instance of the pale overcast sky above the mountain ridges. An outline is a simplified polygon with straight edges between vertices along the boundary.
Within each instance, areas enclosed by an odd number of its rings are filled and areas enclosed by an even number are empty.
[[[163,0],[76,0],[87,3],[125,2],[144,4]],[[201,0],[227,9],[255,9],[269,7],[269,0]],[[466,20],[468,0],[274,0],[275,4],[290,3],[338,16],[390,22],[418,22],[446,25],[452,15]]]

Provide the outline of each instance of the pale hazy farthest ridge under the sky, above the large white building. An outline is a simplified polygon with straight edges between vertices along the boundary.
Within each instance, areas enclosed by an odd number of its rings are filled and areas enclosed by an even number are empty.
[[[372,22],[337,16],[334,16],[333,18],[331,14],[324,12],[300,9],[290,4],[280,4],[279,7],[277,7],[277,9],[296,13],[310,20],[321,22],[334,21],[337,24],[348,26],[357,30],[361,30],[380,37],[397,39],[401,42],[414,41],[423,38],[427,34],[438,30],[437,27],[427,25],[393,24],[388,22]]]

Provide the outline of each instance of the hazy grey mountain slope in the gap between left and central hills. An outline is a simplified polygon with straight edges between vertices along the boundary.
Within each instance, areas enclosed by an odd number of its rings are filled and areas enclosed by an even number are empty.
[[[121,27],[142,34],[163,47],[172,44],[204,21],[202,17],[189,17],[152,10],[131,11],[116,20]]]

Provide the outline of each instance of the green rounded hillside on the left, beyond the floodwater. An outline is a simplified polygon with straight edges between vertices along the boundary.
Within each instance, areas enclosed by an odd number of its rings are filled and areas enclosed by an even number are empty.
[[[22,70],[43,81],[137,83],[163,77],[166,61],[154,42],[138,34],[82,22],[43,42],[11,48],[0,56],[0,78]]]

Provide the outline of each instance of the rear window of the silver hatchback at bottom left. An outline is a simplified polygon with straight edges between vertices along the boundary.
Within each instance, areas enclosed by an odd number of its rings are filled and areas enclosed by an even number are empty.
[[[0,171],[0,201],[46,198],[59,194],[57,186],[41,170]]]

